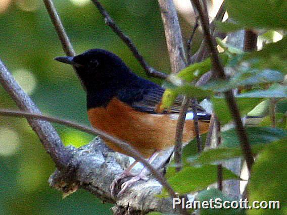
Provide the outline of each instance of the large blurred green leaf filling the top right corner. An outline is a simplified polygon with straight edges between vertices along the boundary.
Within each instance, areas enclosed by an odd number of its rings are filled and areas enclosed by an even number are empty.
[[[228,0],[230,18],[245,28],[287,29],[287,1],[284,0]]]

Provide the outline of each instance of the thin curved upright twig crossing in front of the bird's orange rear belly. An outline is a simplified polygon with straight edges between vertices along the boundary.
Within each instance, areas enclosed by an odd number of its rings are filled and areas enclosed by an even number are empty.
[[[178,121],[176,124],[176,131],[175,131],[175,146],[174,146],[174,163],[176,171],[180,171],[182,168],[182,131],[184,127],[184,121],[186,112],[189,105],[189,98],[184,96],[182,101],[181,110],[179,112]]]

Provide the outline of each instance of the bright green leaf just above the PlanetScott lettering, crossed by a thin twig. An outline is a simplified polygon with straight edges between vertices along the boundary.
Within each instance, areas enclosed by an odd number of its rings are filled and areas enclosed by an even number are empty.
[[[223,179],[239,179],[233,172],[223,168]],[[183,167],[174,176],[168,178],[168,182],[175,192],[185,194],[206,188],[217,181],[217,166],[205,165],[201,167]],[[163,196],[168,195],[164,189]]]

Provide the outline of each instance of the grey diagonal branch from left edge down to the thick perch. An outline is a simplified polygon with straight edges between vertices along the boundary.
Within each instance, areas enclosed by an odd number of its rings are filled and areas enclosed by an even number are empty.
[[[0,82],[11,98],[16,102],[19,109],[29,113],[41,114],[32,99],[21,89],[6,66],[0,60]],[[27,119],[32,129],[41,140],[47,153],[50,154],[57,168],[66,171],[68,168],[69,154],[57,134],[54,127],[49,122],[34,119]]]

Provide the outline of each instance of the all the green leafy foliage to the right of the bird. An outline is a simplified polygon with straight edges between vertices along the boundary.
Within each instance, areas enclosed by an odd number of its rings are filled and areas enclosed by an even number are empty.
[[[227,0],[226,8],[229,17],[235,22],[235,24],[218,23],[219,28],[226,32],[242,28],[255,31],[257,28],[261,28],[269,32],[275,32],[274,30],[283,32],[287,29],[286,1]],[[230,89],[238,89],[235,100],[242,117],[249,116],[254,119],[261,117],[260,122],[253,124],[253,127],[245,127],[253,155],[258,156],[251,172],[248,194],[250,201],[279,200],[282,206],[286,199],[285,170],[287,170],[285,162],[287,156],[287,85],[285,80],[287,37],[283,33],[281,35],[282,38],[279,41],[267,40],[267,44],[263,45],[261,50],[252,52],[238,50],[217,39],[218,44],[224,49],[224,52],[220,54],[221,62],[225,67],[232,68],[234,74],[228,81],[212,80],[205,86],[193,87],[197,93],[192,96],[201,99],[206,94],[210,95],[213,110],[218,116],[221,126],[232,122],[229,107],[222,96],[223,92]],[[190,65],[177,75],[170,76],[169,81],[172,85],[166,84],[168,90],[165,93],[162,106],[168,108],[168,104],[172,103],[175,98],[174,95],[190,96],[190,91],[187,87],[183,89],[183,86],[190,86],[192,81],[194,83],[211,67],[212,63],[208,58],[201,63]],[[172,93],[173,96],[169,96]],[[272,128],[273,126],[275,128]],[[216,173],[210,170],[207,177],[205,168],[216,168],[214,164],[223,160],[242,157],[243,152],[235,129],[221,132],[221,138],[221,145],[216,149],[209,149],[201,153],[187,149],[190,155],[184,157],[183,168],[180,172],[176,173],[175,167],[170,166],[167,171],[170,176],[168,180],[178,193],[204,189],[208,183],[216,182]],[[197,170],[200,171],[194,173]],[[231,177],[226,170],[223,172],[223,178]],[[183,177],[184,175],[185,177]],[[163,194],[166,194],[166,191],[163,191]],[[216,198],[216,196],[229,198],[228,196],[224,197],[220,191],[215,189],[200,192],[198,198],[203,200]],[[286,210],[220,210],[220,214],[245,214],[246,212],[249,214],[283,214]],[[219,211],[205,210],[201,211],[201,214],[219,214]]]

